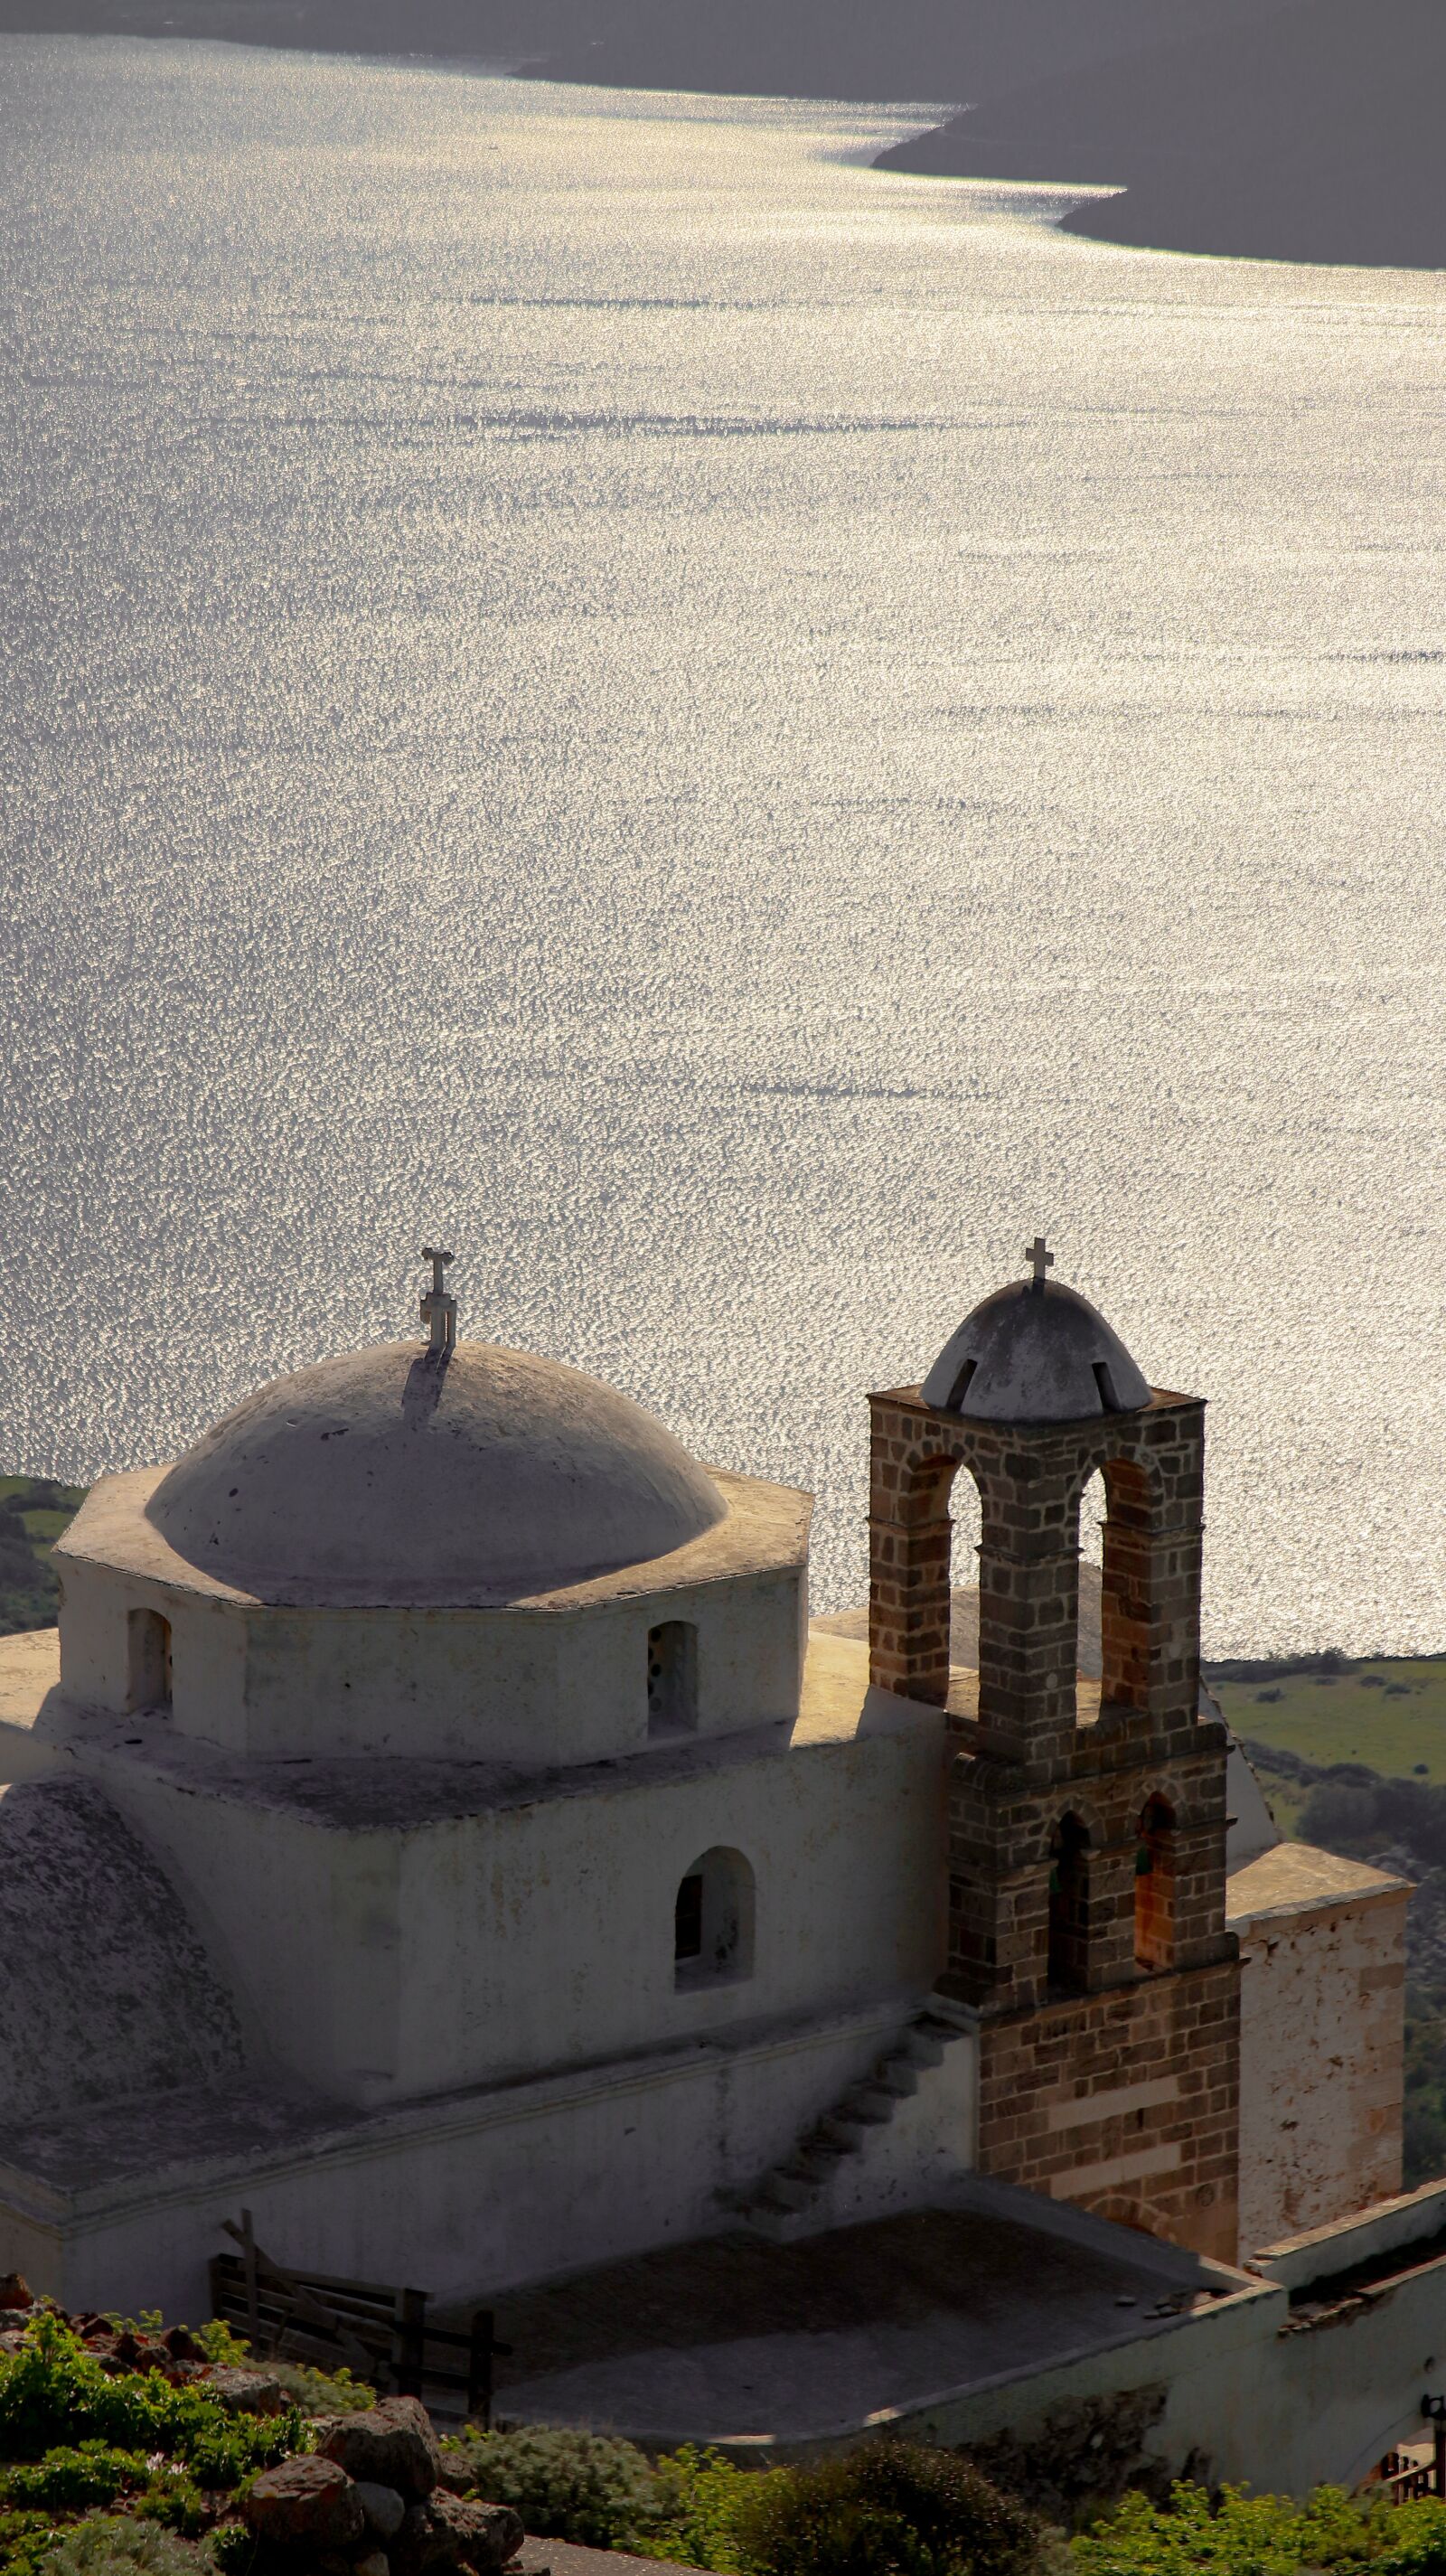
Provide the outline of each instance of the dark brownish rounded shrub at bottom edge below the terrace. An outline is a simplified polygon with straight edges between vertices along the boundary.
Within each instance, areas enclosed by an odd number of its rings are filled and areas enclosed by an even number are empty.
[[[977,2468],[920,2442],[753,2478],[735,2530],[755,2576],[1026,2576],[1041,2537]]]

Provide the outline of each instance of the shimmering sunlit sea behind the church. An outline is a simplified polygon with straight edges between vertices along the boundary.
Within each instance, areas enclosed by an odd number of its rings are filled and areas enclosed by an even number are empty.
[[[464,1329],[820,1494],[1046,1226],[1209,1643],[1446,1643],[1446,278],[889,111],[0,44],[3,1463]]]

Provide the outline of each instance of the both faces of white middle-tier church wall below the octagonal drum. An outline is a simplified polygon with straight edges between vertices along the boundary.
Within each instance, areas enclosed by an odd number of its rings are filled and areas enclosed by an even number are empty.
[[[250,2027],[340,2102],[933,1986],[946,1901],[933,1710],[853,1741],[639,1762],[650,1777],[621,1765],[588,1790],[394,1829],[343,1829],[119,1757],[90,1767],[170,1868]],[[678,1886],[719,1844],[753,1873],[753,1968],[678,1986]]]

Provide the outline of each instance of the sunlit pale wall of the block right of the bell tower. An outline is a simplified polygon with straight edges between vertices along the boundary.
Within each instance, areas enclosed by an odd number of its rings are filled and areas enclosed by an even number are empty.
[[[1400,2192],[1405,1893],[1240,1929],[1240,2244]]]

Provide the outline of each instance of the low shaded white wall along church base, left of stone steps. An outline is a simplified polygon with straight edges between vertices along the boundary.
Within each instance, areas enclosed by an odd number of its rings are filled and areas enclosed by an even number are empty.
[[[255,2159],[204,2179],[157,2169],[149,2187],[85,2195],[46,2223],[0,2174],[0,2267],[72,2308],[173,2318],[206,2313],[206,2259],[245,2205],[281,2262],[397,2280],[446,2300],[683,2244],[729,2213],[802,2128],[894,2043],[897,2009],[753,2032],[737,2048],[655,2058],[508,2087],[338,2138],[314,2156]],[[972,2056],[961,2038],[951,2061]],[[941,2117],[951,2099],[938,2097]],[[961,2159],[964,2161],[964,2159]],[[938,2187],[925,2159],[918,2202]],[[887,2205],[905,2205],[897,2192]]]

